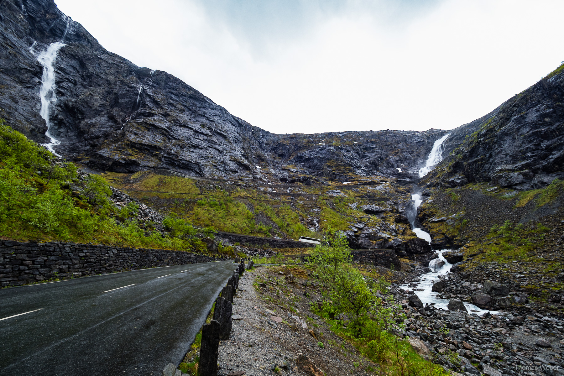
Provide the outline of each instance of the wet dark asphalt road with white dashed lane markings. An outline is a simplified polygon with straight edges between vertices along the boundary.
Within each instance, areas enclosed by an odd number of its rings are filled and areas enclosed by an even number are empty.
[[[0,375],[160,376],[185,355],[235,268],[189,264],[2,289]]]

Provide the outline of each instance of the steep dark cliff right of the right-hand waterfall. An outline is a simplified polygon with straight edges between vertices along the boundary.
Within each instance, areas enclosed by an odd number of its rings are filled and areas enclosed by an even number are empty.
[[[491,182],[519,190],[564,178],[564,65],[486,116],[453,130],[451,156],[427,183]]]

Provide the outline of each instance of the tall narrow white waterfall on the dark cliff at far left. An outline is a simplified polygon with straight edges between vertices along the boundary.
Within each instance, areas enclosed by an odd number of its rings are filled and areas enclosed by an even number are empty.
[[[30,47],[30,51],[33,53],[33,47],[36,43],[33,43]],[[45,135],[51,140],[48,144],[43,144],[47,149],[49,149],[53,154],[60,157],[59,154],[55,152],[53,147],[59,145],[61,141],[55,139],[51,134],[51,104],[55,103],[57,96],[55,94],[55,68],[53,68],[53,62],[57,57],[57,52],[60,48],[65,46],[64,43],[55,42],[51,43],[46,50],[41,51],[39,55],[36,56],[37,61],[43,67],[43,75],[41,76],[41,87],[39,88],[39,96],[41,97],[41,109],[39,110],[39,115],[45,120],[47,125],[47,132]]]

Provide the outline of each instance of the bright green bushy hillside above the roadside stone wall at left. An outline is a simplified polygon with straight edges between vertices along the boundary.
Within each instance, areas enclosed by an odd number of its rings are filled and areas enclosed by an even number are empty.
[[[162,218],[99,175],[85,174],[0,121],[2,238],[207,253],[209,231],[196,234],[183,220]]]

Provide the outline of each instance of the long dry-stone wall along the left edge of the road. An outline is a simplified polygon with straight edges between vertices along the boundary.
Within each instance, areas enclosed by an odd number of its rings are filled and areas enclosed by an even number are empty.
[[[0,241],[0,284],[2,287],[20,286],[51,278],[81,277],[224,259],[228,258],[163,249]]]

